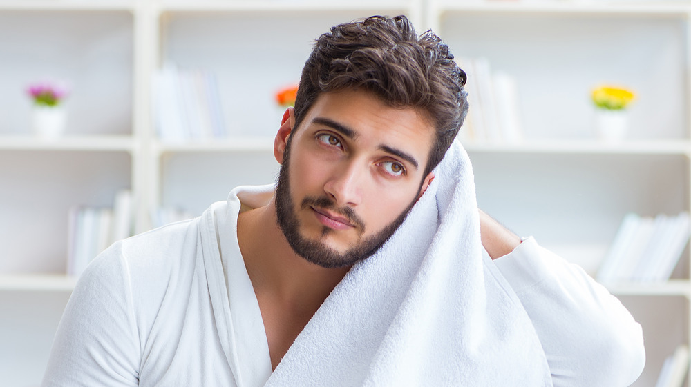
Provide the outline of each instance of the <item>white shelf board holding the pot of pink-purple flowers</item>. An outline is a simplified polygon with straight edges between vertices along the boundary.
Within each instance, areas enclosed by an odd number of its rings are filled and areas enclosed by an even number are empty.
[[[30,136],[0,136],[0,150],[80,150],[133,152],[131,136],[66,136],[41,139]]]

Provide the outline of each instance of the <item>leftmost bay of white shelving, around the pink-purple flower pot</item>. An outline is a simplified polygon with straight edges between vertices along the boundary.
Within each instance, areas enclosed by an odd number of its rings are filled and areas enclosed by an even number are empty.
[[[74,287],[67,214],[137,182],[133,1],[0,1],[0,378],[38,385]],[[30,134],[29,83],[68,80],[64,138]]]

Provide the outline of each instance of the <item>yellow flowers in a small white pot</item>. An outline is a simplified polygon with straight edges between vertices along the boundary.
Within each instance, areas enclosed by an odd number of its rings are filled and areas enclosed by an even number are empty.
[[[636,95],[627,88],[600,86],[592,92],[596,107],[596,123],[600,139],[618,141],[623,139],[628,128],[627,106]]]

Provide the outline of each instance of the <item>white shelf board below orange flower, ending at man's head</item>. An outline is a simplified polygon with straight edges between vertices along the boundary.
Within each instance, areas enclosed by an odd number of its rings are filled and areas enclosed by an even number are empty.
[[[171,152],[266,152],[274,149],[274,137],[230,137],[227,139],[159,141],[154,144],[159,154]]]

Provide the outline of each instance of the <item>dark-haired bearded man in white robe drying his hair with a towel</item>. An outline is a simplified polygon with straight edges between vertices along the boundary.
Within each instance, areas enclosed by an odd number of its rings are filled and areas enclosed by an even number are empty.
[[[616,298],[482,212],[477,232],[452,146],[465,81],[405,17],[323,34],[276,135],[276,187],[106,250],[44,386],[632,383],[641,328]]]

